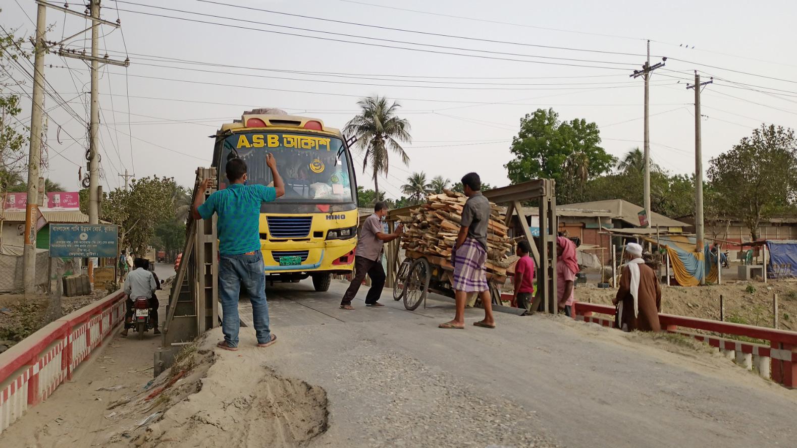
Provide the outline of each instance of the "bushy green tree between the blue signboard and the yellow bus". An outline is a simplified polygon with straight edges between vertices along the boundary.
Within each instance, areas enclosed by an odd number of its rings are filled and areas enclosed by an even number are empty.
[[[155,228],[175,219],[175,179],[133,179],[130,190],[117,188],[102,206],[102,218],[120,226],[120,240],[134,253],[144,253],[155,237]]]

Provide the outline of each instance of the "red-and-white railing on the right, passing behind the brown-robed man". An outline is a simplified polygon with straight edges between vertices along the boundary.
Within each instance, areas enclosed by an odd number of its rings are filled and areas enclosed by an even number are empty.
[[[595,316],[596,314],[599,316]],[[611,317],[607,318],[606,315]],[[611,327],[614,325],[614,307],[575,302],[573,305],[573,317],[576,320],[594,322],[604,327]],[[736,364],[748,370],[752,370],[755,365],[759,375],[764,378],[771,378],[775,383],[783,384],[784,387],[790,389],[797,387],[797,332],[663,313],[659,313],[658,320],[662,324],[662,329],[668,332],[679,333],[704,341],[713,347],[719,348],[724,356],[736,360]],[[753,339],[766,340],[769,345],[685,332],[679,328],[703,330],[722,335],[746,336]]]

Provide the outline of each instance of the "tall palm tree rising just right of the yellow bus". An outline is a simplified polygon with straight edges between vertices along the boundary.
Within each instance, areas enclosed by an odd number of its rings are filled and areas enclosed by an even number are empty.
[[[399,142],[410,143],[410,122],[396,116],[399,107],[395,101],[387,104],[384,96],[369,96],[357,101],[360,113],[346,124],[344,132],[357,139],[357,147],[363,154],[363,172],[371,163],[374,191],[379,195],[377,175],[387,176],[388,154],[390,151],[401,156],[402,162],[410,163]]]

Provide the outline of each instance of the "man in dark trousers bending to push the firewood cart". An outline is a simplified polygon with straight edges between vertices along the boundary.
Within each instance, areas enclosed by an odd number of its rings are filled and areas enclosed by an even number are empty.
[[[343,299],[340,301],[340,308],[352,310],[351,301],[357,295],[360,285],[363,284],[366,274],[371,277],[371,289],[365,296],[365,306],[384,306],[379,303],[382,296],[382,289],[385,287],[385,269],[382,265],[382,251],[386,242],[391,242],[400,237],[403,226],[399,224],[392,234],[384,233],[382,220],[387,216],[387,205],[384,202],[374,204],[374,214],[371,214],[363,222],[363,228],[359,230],[357,249],[354,257],[354,278],[351,279]]]

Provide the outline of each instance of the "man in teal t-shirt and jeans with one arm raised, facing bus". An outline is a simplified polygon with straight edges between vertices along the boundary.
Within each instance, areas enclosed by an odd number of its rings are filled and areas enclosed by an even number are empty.
[[[269,304],[265,300],[265,267],[260,246],[260,207],[285,195],[285,183],[277,172],[277,161],[266,155],[274,187],[246,185],[246,163],[241,159],[227,161],[226,174],[230,185],[207,198],[210,179],[205,179],[194,198],[194,219],[210,219],[218,214],[218,298],[222,302],[222,332],[219,348],[238,350],[238,298],[241,285],[252,301],[252,315],[257,346],[268,347],[277,341],[269,329]]]

